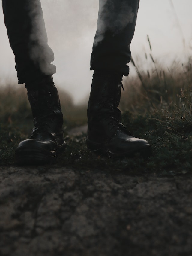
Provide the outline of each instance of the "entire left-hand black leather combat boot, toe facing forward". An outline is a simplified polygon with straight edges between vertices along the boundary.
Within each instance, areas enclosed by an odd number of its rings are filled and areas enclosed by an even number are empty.
[[[19,143],[16,160],[19,164],[49,163],[65,148],[60,100],[52,76],[34,84],[26,83],[35,128],[32,135]]]

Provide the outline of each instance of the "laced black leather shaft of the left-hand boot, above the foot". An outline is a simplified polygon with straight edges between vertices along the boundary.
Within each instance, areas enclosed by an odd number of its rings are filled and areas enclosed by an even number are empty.
[[[52,76],[46,76],[34,84],[26,84],[35,129],[44,126],[51,133],[61,133],[63,114]]]

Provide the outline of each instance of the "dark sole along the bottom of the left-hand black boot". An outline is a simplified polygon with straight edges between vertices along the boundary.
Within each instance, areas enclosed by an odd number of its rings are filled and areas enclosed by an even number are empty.
[[[58,146],[53,151],[46,150],[44,148],[29,148],[26,146],[20,146],[15,151],[16,163],[19,165],[42,165],[55,163],[58,154],[64,151],[66,143]]]

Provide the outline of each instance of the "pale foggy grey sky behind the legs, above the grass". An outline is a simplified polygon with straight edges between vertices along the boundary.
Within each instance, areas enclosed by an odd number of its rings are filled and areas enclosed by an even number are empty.
[[[74,103],[85,101],[92,73],[90,55],[96,32],[98,0],[41,0],[48,44],[55,54],[54,81],[69,92]],[[173,2],[174,8],[171,4]],[[184,62],[192,53],[192,1],[141,0],[136,31],[131,43],[132,56],[143,69],[148,68],[149,35],[153,56],[165,67]],[[9,45],[2,8],[0,10],[0,80],[17,84],[14,55]],[[130,76],[135,75],[130,64]],[[24,86],[24,85],[18,85]]]

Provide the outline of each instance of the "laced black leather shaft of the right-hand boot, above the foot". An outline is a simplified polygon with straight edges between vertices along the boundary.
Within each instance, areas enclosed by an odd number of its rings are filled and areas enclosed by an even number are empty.
[[[122,126],[118,109],[121,87],[118,76],[93,76],[87,109],[89,139],[106,141]]]

